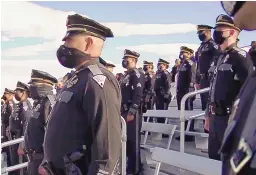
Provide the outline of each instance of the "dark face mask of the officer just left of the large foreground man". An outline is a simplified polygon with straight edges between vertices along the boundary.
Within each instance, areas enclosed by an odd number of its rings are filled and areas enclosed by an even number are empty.
[[[46,97],[47,95],[53,94],[53,87],[47,85],[30,85],[29,87],[29,95],[32,99],[39,99],[42,97]]]

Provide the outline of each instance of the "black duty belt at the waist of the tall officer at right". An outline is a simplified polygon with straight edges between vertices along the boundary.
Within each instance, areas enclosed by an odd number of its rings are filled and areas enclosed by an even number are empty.
[[[217,116],[229,115],[231,113],[231,107],[221,105],[220,103],[212,102],[209,104],[209,112],[212,115]]]

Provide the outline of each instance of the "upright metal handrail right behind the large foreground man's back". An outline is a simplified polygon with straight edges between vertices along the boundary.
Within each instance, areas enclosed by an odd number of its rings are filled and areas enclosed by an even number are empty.
[[[122,174],[126,174],[126,142],[127,142],[127,127],[123,117],[122,122]]]

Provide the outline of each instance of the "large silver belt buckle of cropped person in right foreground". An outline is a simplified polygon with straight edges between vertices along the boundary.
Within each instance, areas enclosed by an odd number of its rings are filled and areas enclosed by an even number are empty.
[[[253,158],[256,151],[256,135],[250,141],[242,138],[239,142],[237,151],[234,152],[230,159],[230,165],[235,174],[239,173],[241,169]],[[256,155],[251,162],[251,166],[256,166]],[[256,167],[252,167],[256,168]]]

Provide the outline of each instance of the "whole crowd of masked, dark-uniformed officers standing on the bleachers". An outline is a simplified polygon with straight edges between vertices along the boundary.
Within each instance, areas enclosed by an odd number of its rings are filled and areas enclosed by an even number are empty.
[[[210,92],[201,94],[201,102],[206,111],[205,132],[209,132],[209,158],[221,160],[219,151],[225,156],[228,149],[221,146],[224,132],[233,120],[232,110],[239,110],[236,97],[254,71],[256,43],[251,43],[249,53],[240,49],[241,29],[227,15],[217,17],[213,39],[212,29],[197,26],[200,47],[194,53],[182,46],[171,72],[164,59],[158,60],[156,73],[153,62],[144,61],[143,68],[137,68],[140,54],[126,49],[122,58],[126,71],[114,76],[115,65],[100,57],[105,39],[114,36],[112,31],[78,14],[68,16],[64,44],[56,55],[62,66],[74,71],[58,81],[47,72],[32,70],[27,84],[17,82],[16,89],[6,88],[1,98],[1,142],[25,140],[2,150],[8,166],[22,158],[29,161],[25,172],[29,175],[121,174],[122,116],[127,122],[127,174],[143,174],[142,114],[154,107],[168,110],[174,97],[180,110],[185,94],[206,87]],[[193,110],[194,100],[186,101],[185,110]],[[161,118],[157,122],[165,123]]]

